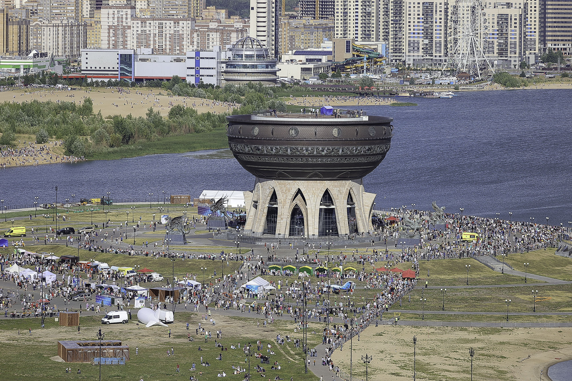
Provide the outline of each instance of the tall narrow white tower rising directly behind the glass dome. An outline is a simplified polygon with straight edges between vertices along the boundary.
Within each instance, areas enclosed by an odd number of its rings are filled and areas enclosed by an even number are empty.
[[[272,57],[280,51],[280,0],[251,0],[250,37],[259,39],[266,45]]]

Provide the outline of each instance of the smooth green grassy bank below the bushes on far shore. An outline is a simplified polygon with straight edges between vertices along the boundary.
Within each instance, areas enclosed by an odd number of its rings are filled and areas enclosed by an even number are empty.
[[[112,160],[124,157],[145,156],[157,153],[184,153],[203,149],[228,148],[225,129],[219,128],[200,134],[168,136],[157,141],[137,142],[118,148],[105,148],[93,152],[92,160]]]

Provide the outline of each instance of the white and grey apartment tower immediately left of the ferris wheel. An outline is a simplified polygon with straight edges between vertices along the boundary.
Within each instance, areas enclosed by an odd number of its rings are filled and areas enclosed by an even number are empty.
[[[446,1],[407,2],[407,31],[403,39],[406,64],[418,67],[442,66],[448,53],[447,25]],[[399,34],[398,29],[395,35]],[[400,37],[395,40],[390,37],[390,49],[399,40]]]

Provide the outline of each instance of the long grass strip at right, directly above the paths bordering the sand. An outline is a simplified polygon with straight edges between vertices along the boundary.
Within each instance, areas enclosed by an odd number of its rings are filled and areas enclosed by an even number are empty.
[[[448,288],[445,293],[446,311],[467,312],[506,312],[506,299],[512,300],[510,312],[533,312],[533,288],[538,290],[537,312],[567,312],[572,316],[572,285],[543,285],[534,287],[484,287],[484,288]],[[427,299],[426,311],[441,311],[443,294],[440,289],[416,288],[411,292],[411,302],[408,296],[403,298],[402,307],[399,303],[393,309],[414,309],[421,311],[421,297]],[[440,315],[445,316],[445,315]]]

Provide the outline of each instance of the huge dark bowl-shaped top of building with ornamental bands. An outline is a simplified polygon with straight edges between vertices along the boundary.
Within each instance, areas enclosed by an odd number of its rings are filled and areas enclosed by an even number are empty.
[[[233,115],[227,121],[229,148],[256,177],[352,180],[386,157],[393,118]]]

